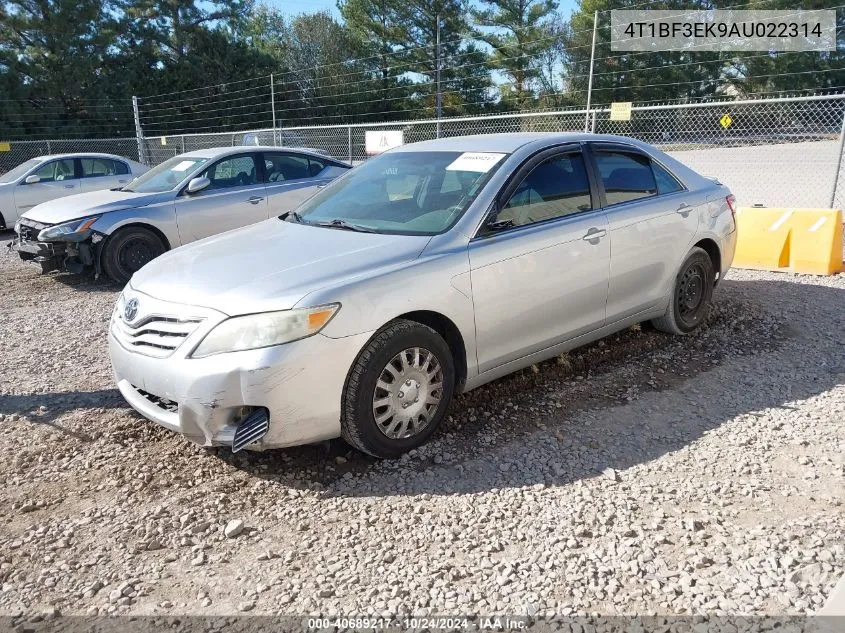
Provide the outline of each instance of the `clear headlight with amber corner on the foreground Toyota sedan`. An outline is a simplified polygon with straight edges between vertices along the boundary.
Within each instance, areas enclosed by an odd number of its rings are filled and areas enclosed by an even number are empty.
[[[297,341],[322,330],[339,309],[339,303],[332,303],[315,308],[232,317],[211,330],[191,354],[191,358]]]

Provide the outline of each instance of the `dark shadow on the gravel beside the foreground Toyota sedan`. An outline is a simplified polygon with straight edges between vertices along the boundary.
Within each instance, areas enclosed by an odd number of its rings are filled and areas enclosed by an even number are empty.
[[[539,371],[525,370],[458,397],[450,409],[450,421],[434,437],[434,446],[423,447],[416,457],[377,460],[340,440],[265,453],[232,455],[228,449],[217,449],[217,454],[251,476],[284,485],[303,485],[291,475],[308,469],[314,473],[308,485],[316,483],[331,495],[443,495],[536,484],[561,486],[656,460],[736,416],[757,415],[771,407],[789,409],[791,401],[845,382],[845,350],[835,336],[845,331],[845,291],[786,280],[728,279],[724,285],[717,298],[722,305],[720,316],[696,334],[677,338],[646,328],[625,332],[605,339],[604,344],[576,350],[585,357],[607,350],[601,362],[568,371],[549,361]],[[804,319],[820,318],[818,306],[830,306],[821,315],[831,320],[830,340],[822,331],[802,326]],[[650,344],[634,345],[630,353],[622,349],[631,348],[632,340],[642,337]],[[791,368],[789,356],[779,354],[783,345],[813,354],[818,371],[796,375],[787,389],[756,388],[759,378],[749,388],[752,383],[746,383],[743,375],[780,373],[779,384],[784,383],[783,374],[789,375]],[[621,353],[614,356],[614,351]],[[653,370],[663,366],[670,351],[676,355],[669,360],[674,369],[664,371],[655,382]],[[628,392],[636,387],[632,403],[625,398],[626,392],[620,392],[620,382]],[[690,388],[694,396],[687,395]],[[665,413],[676,392],[683,392],[679,398],[701,403],[692,415],[648,415],[652,404],[653,410]],[[531,404],[552,398],[564,403],[560,409],[549,411]],[[646,414],[637,407],[644,399],[652,403],[645,408]],[[520,408],[528,408],[524,419],[516,414]],[[491,440],[482,411],[512,411],[515,421],[507,426],[510,421],[500,419]]]

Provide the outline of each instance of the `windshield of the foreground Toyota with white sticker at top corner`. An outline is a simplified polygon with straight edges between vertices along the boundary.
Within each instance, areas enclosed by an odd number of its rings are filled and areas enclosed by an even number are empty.
[[[395,152],[347,172],[291,221],[404,235],[435,235],[466,211],[505,154]]]

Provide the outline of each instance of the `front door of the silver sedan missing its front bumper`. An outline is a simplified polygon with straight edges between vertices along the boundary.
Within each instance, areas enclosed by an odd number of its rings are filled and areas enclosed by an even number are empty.
[[[267,195],[260,182],[258,155],[233,154],[215,161],[198,177],[211,184],[176,198],[176,221],[183,244],[266,220]]]

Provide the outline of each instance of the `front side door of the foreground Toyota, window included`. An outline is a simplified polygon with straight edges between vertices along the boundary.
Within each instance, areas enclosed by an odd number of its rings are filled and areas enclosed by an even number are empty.
[[[578,149],[534,159],[469,246],[479,372],[601,327],[610,240]]]

